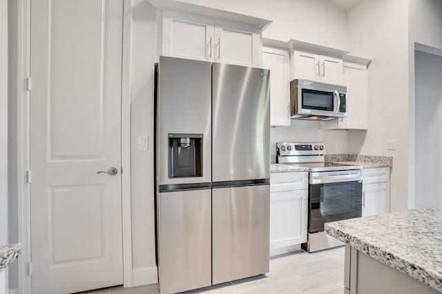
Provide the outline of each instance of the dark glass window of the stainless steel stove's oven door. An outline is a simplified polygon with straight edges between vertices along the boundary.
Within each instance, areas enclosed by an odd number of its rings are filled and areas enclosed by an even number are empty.
[[[362,216],[362,182],[334,182],[309,188],[310,233],[324,231],[325,222]]]

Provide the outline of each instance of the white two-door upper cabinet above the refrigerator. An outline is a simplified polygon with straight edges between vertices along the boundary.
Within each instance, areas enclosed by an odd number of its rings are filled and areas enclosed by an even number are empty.
[[[161,55],[260,67],[261,30],[184,12],[163,11]]]

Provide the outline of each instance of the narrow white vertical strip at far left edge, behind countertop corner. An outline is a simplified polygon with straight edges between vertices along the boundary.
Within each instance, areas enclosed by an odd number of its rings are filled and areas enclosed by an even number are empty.
[[[8,244],[8,1],[0,0],[0,245]],[[8,292],[6,271],[0,294]]]

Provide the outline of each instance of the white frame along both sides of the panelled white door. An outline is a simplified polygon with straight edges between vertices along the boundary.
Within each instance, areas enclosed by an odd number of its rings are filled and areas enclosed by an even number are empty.
[[[0,0],[1,1],[1,0]],[[6,1],[6,0],[3,0]],[[26,78],[30,76],[30,2],[17,0],[17,216],[19,242],[19,294],[31,294],[28,264],[30,249],[30,91]],[[132,229],[131,229],[131,22],[132,0],[123,0],[123,56],[122,56],[122,233],[124,286],[132,286]],[[12,18],[10,18],[12,19]]]

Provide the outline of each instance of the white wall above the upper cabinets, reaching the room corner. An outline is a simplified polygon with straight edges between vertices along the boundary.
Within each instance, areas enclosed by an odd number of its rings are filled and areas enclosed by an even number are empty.
[[[273,21],[262,36],[348,48],[347,14],[328,0],[179,0]]]

